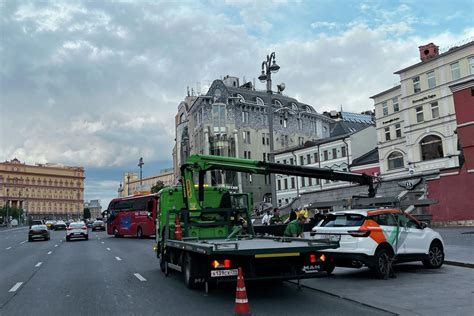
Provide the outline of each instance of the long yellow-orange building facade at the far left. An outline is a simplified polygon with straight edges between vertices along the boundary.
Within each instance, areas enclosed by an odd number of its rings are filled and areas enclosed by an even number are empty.
[[[82,167],[5,161],[0,163],[0,207],[8,203],[32,218],[82,216],[84,179]]]

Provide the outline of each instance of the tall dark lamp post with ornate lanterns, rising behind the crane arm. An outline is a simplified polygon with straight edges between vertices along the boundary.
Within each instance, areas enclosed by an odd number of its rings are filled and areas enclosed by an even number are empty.
[[[258,77],[261,82],[267,82],[268,96],[268,131],[270,133],[270,162],[275,162],[273,153],[273,105],[272,105],[272,73],[277,73],[280,66],[275,61],[275,52],[267,55],[267,60],[262,62],[262,74]],[[270,185],[272,187],[272,205],[277,206],[275,174],[270,175]]]

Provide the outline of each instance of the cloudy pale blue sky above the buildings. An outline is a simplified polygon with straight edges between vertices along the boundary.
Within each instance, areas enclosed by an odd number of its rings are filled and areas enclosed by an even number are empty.
[[[287,95],[371,110],[418,46],[473,40],[473,17],[474,0],[0,0],[0,161],[82,166],[106,208],[140,157],[144,176],[172,167],[187,87],[251,81],[275,52]]]

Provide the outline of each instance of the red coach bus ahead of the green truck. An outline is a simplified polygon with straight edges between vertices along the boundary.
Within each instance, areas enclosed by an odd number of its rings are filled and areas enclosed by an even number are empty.
[[[115,237],[155,235],[158,194],[115,198],[104,212],[107,234]]]

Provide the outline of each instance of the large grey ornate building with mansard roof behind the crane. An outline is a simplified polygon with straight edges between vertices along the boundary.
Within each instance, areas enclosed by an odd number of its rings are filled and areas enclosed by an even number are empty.
[[[268,160],[269,104],[266,91],[256,90],[251,82],[240,85],[238,78],[230,76],[215,80],[205,95],[181,102],[173,149],[175,181],[190,154]],[[312,106],[281,93],[272,94],[271,105],[275,151],[329,136],[333,120]],[[215,171],[206,182],[252,192],[255,202],[271,196],[269,176]]]

